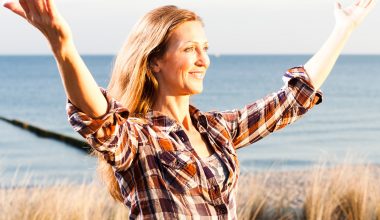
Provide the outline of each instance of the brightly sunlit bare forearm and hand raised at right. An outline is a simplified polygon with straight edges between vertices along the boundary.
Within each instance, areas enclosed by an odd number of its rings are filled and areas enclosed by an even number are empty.
[[[348,7],[336,3],[333,32],[304,66],[315,89],[319,89],[326,80],[351,33],[374,6],[375,0],[356,0]]]

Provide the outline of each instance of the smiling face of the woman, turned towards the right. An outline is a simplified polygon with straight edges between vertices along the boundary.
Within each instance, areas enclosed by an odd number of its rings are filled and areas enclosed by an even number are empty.
[[[177,27],[168,39],[164,55],[156,60],[153,70],[159,95],[182,96],[202,92],[203,78],[210,64],[208,42],[199,21]]]

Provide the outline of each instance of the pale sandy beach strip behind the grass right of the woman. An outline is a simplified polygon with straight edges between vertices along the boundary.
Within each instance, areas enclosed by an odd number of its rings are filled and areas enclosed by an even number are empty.
[[[243,174],[239,183],[238,196],[243,197],[239,200],[247,201],[246,199],[255,193],[254,187],[257,187],[257,191],[264,192],[262,196],[267,198],[268,204],[299,210],[305,204],[306,195],[313,186],[312,183],[322,188],[329,187],[335,178],[341,178],[337,181],[347,176],[355,179],[355,176],[360,178],[360,175],[365,175],[365,172],[368,172],[370,181],[380,181],[380,166],[376,165],[343,165],[334,168],[320,166],[302,171],[262,171]],[[338,177],[339,175],[342,177]]]

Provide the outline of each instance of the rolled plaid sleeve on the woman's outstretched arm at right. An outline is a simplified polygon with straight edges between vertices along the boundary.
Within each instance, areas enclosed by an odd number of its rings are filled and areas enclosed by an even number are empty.
[[[322,92],[315,91],[303,67],[289,69],[285,85],[275,93],[242,109],[222,112],[235,149],[252,144],[284,128],[322,102]]]

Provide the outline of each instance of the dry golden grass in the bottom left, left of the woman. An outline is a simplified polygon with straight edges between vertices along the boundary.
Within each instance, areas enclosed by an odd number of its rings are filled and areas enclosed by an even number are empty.
[[[0,219],[127,219],[128,210],[97,183],[0,190]]]

